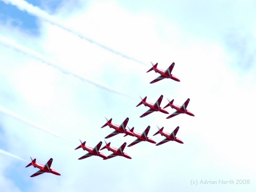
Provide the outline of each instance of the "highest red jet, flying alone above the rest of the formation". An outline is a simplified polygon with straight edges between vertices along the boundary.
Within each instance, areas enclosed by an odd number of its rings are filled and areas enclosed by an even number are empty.
[[[165,79],[165,78],[173,79],[174,81],[180,81],[180,79],[178,79],[177,77],[175,77],[174,75],[171,74],[171,73],[172,73],[172,69],[173,69],[173,67],[174,67],[174,65],[175,65],[174,62],[173,62],[172,65],[170,65],[170,67],[167,68],[165,71],[162,70],[162,69],[157,68],[157,64],[158,64],[158,63],[156,63],[156,64],[154,65],[154,64],[151,62],[151,64],[153,65],[153,67],[150,68],[150,69],[147,71],[147,73],[148,73],[149,71],[154,70],[156,73],[159,73],[160,76],[157,77],[155,80],[151,81],[150,83],[156,83],[157,81],[160,81],[160,80]]]

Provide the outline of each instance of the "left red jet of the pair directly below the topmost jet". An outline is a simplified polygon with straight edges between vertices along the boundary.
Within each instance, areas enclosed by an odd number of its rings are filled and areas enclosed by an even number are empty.
[[[152,112],[154,112],[154,111],[160,111],[160,112],[162,112],[162,113],[169,114],[168,111],[166,111],[165,109],[163,109],[163,108],[160,107],[161,102],[162,102],[162,100],[163,100],[163,95],[161,95],[161,96],[159,97],[159,99],[156,101],[155,104],[147,102],[147,101],[146,101],[147,97],[145,97],[144,99],[142,99],[142,98],[140,97],[140,99],[141,99],[141,102],[140,102],[136,107],[140,106],[141,104],[143,104],[143,105],[149,107],[148,111],[146,111],[146,112],[145,112],[144,114],[142,114],[140,117],[147,116],[148,114],[150,114],[150,113],[152,113]]]

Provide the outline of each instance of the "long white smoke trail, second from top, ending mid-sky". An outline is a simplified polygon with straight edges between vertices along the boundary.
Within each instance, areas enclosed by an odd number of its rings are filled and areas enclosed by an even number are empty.
[[[33,57],[34,59],[40,60],[43,63],[58,69],[63,74],[68,74],[68,75],[74,76],[74,77],[76,77],[76,78],[78,78],[78,79],[80,79],[80,80],[82,80],[84,82],[88,82],[90,84],[93,84],[96,87],[99,87],[101,89],[104,89],[104,90],[107,90],[109,92],[116,93],[116,94],[119,94],[119,95],[123,95],[123,96],[129,97],[131,99],[134,99],[133,97],[131,97],[129,95],[126,95],[126,94],[124,94],[122,92],[116,91],[114,88],[109,87],[107,84],[103,84],[103,83],[101,83],[101,82],[99,82],[99,81],[97,81],[95,79],[90,78],[90,77],[83,77],[83,76],[77,75],[77,74],[75,74],[73,72],[68,71],[67,69],[61,68],[58,65],[56,65],[55,63],[53,63],[52,61],[50,61],[47,58],[45,58],[43,55],[40,55],[37,52],[34,52],[34,51],[32,51],[32,50],[30,50],[30,49],[28,49],[26,47],[23,47],[23,46],[21,46],[19,44],[16,44],[11,39],[7,39],[7,38],[4,38],[4,37],[0,36],[0,44],[4,45],[5,47],[12,48],[16,52],[20,52],[20,53],[26,54],[26,55],[28,55],[30,57]]]

